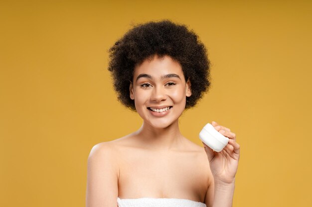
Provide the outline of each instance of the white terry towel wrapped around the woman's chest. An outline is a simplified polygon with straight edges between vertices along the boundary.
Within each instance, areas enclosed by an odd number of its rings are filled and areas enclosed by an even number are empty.
[[[188,199],[120,199],[117,198],[118,207],[206,207],[204,203]]]

